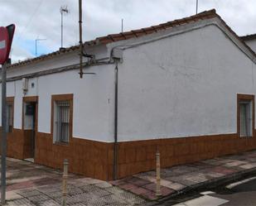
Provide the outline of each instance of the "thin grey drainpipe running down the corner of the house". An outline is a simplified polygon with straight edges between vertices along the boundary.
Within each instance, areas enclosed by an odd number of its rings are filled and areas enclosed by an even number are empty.
[[[113,179],[118,178],[118,60],[114,69],[114,168]]]

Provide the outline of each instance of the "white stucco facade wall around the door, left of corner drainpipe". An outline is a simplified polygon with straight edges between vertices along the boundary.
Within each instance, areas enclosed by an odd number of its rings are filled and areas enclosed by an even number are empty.
[[[73,137],[113,141],[113,128],[109,124],[112,126],[114,121],[114,65],[86,69],[95,74],[85,74],[83,79],[78,72],[76,69],[31,78],[26,95],[22,91],[22,80],[7,82],[7,97],[15,96],[14,128],[22,128],[22,98],[38,96],[38,132],[51,133],[51,95],[74,93]]]

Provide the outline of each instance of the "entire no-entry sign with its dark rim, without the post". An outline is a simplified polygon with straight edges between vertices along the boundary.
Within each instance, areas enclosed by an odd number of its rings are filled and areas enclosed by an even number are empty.
[[[14,31],[14,24],[0,27],[0,65],[3,65],[9,58]]]

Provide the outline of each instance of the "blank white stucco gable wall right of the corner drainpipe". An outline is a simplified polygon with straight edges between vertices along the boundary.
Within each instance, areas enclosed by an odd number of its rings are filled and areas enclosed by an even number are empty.
[[[236,132],[237,93],[256,93],[255,69],[216,26],[124,50],[118,140]]]

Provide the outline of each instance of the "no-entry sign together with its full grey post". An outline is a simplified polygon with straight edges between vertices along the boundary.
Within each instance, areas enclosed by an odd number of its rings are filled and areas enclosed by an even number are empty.
[[[6,69],[15,25],[0,27],[0,65],[2,65],[2,142],[1,142],[1,204],[6,202],[7,95]]]

